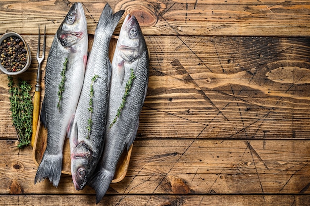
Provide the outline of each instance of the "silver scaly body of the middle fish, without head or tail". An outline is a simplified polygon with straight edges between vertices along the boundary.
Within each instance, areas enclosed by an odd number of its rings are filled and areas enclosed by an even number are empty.
[[[84,85],[80,95],[80,100],[75,113],[75,121],[78,125],[78,141],[84,141],[93,151],[93,157],[101,154],[99,145],[103,141],[103,132],[105,125],[105,110],[107,107],[107,95],[108,95],[108,76],[110,72],[108,71],[108,47],[109,38],[106,34],[97,36],[94,39],[94,44],[92,51],[89,55],[88,64],[85,72]],[[104,40],[104,41],[103,41]],[[88,136],[88,119],[90,118],[90,111],[88,110],[90,101],[90,85],[92,78],[98,75],[99,78],[94,82],[94,97],[93,97],[93,108],[92,113],[92,129],[90,132],[89,139]],[[95,163],[95,162],[93,162]]]

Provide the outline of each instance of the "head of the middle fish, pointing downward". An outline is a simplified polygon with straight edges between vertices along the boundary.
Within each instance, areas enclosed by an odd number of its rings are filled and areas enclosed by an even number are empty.
[[[71,152],[71,174],[76,190],[81,190],[86,185],[92,170],[90,167],[92,154],[91,149],[84,141],[76,145]]]

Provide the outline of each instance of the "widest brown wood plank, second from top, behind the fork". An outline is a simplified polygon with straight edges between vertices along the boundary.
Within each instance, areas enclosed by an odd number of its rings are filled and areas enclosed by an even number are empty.
[[[24,38],[34,60],[19,77],[34,92],[37,37]],[[150,80],[138,138],[309,139],[310,38],[147,36],[146,41]],[[0,74],[0,138],[12,139],[6,78]]]

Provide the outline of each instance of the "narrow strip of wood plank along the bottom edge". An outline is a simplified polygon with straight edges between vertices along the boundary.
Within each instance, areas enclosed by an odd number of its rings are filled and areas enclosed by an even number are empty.
[[[94,195],[0,195],[6,206],[306,206],[309,195],[108,195],[96,205]]]

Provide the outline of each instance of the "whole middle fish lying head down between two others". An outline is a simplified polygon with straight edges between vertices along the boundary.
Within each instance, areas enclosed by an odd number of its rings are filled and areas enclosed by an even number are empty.
[[[87,60],[70,134],[71,174],[76,190],[85,187],[102,154],[111,76],[109,42],[123,13],[120,10],[112,14],[110,5],[105,4]]]

